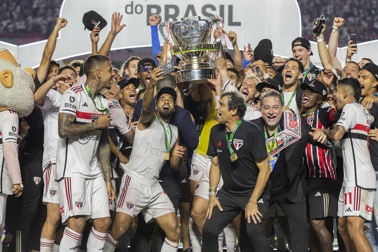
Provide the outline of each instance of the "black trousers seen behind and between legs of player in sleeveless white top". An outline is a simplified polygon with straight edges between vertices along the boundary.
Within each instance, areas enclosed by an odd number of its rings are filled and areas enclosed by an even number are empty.
[[[173,207],[176,210],[179,207],[179,199],[181,197],[180,186],[171,184],[168,182],[160,182],[161,187],[172,201]],[[165,238],[164,232],[156,224],[156,222],[147,223],[144,221],[143,215],[138,214],[138,226],[134,236],[134,240],[131,244],[131,251],[133,252],[150,252],[150,241],[156,233],[162,240]],[[161,243],[162,244],[162,243]],[[159,248],[160,249],[160,248]]]

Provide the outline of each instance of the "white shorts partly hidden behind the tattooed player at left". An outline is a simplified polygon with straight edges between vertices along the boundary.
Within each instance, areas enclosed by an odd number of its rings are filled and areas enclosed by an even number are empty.
[[[43,171],[43,204],[57,203],[59,204],[58,182],[55,181],[55,163],[49,163]]]

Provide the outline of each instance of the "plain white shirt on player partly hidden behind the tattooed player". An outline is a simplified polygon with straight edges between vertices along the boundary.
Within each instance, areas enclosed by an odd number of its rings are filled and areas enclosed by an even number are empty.
[[[62,94],[51,89],[44,98],[43,105],[38,105],[43,117],[45,128],[43,135],[43,159],[42,167],[49,162],[56,162],[58,146],[58,114],[61,106]]]

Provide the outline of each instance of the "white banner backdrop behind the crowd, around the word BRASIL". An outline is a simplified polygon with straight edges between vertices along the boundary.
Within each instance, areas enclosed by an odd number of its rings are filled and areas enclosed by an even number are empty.
[[[158,13],[161,21],[177,21],[185,16],[210,17],[219,15],[224,20],[224,30],[238,35],[238,45],[251,43],[254,48],[258,41],[269,38],[276,55],[291,56],[291,41],[301,34],[301,15],[296,0],[63,0],[60,17],[68,24],[60,32],[53,55],[55,60],[63,60],[91,53],[90,32],[84,31],[83,14],[95,10],[102,15],[108,25],[101,31],[101,45],[111,29],[111,15],[115,11],[123,14],[121,24],[126,27],[117,35],[112,50],[151,46],[151,30],[148,17]],[[311,29],[311,24],[309,24]],[[328,29],[331,29],[330,27]],[[163,43],[159,35],[160,43]],[[41,61],[47,40],[25,45],[12,45],[0,41],[0,48],[9,48],[23,67],[35,67]],[[372,58],[378,62],[378,41],[358,44],[358,59]],[[312,62],[321,65],[316,43],[312,43]],[[338,58],[345,59],[346,48],[338,50]]]

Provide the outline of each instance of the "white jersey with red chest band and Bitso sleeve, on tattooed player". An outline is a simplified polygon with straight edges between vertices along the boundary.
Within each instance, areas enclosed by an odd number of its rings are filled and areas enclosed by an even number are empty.
[[[74,115],[76,117],[74,124],[95,122],[102,115],[97,108],[108,108],[109,101],[103,95],[95,98],[96,105],[94,105],[84,85],[67,89],[61,99],[59,113]],[[96,158],[100,136],[101,130],[94,129],[80,136],[59,138],[56,166],[57,181],[67,177],[92,179],[101,176]]]

